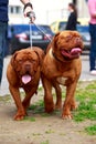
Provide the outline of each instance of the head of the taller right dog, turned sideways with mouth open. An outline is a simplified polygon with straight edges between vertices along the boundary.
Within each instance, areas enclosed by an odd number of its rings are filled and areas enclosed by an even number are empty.
[[[77,59],[82,53],[83,40],[76,31],[62,31],[53,39],[53,53],[61,60]]]

